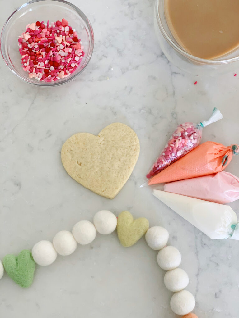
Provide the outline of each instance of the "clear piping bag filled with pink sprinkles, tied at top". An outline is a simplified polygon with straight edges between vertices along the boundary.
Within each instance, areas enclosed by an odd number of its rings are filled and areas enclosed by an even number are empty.
[[[170,137],[161,154],[158,156],[152,168],[148,172],[146,176],[147,179],[155,176],[171,163],[196,148],[202,138],[202,128],[222,118],[220,110],[215,107],[211,117],[207,121],[202,121],[199,124],[185,122],[178,125],[177,129],[173,132],[173,135]]]

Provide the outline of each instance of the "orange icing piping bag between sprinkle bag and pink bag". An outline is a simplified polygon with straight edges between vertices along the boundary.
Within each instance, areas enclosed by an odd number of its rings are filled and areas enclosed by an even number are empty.
[[[233,155],[239,154],[239,146],[224,146],[207,141],[153,176],[148,185],[207,176],[223,171]]]

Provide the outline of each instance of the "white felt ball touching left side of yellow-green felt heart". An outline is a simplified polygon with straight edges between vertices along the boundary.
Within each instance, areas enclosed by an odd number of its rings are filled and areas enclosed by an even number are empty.
[[[95,214],[93,223],[100,234],[110,234],[116,228],[117,218],[112,212],[102,210]]]

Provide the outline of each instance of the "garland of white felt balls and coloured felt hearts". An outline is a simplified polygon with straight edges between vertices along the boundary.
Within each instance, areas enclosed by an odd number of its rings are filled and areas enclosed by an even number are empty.
[[[195,307],[194,296],[184,288],[189,278],[187,273],[178,268],[181,254],[174,246],[165,246],[169,233],[161,226],[149,228],[146,218],[134,219],[130,212],[123,211],[118,218],[106,210],[98,211],[93,224],[90,221],[79,221],[73,227],[72,233],[60,231],[53,238],[53,243],[42,240],[36,243],[32,251],[23,250],[18,256],[6,255],[3,263],[0,261],[0,279],[6,273],[21,287],[30,287],[33,282],[35,265],[48,266],[59,255],[70,255],[76,250],[77,243],[81,245],[91,243],[97,232],[103,235],[112,233],[117,228],[119,240],[123,246],[134,245],[144,234],[150,248],[158,251],[157,263],[165,271],[164,284],[174,294],[170,300],[170,307],[182,318],[198,318],[191,311]]]

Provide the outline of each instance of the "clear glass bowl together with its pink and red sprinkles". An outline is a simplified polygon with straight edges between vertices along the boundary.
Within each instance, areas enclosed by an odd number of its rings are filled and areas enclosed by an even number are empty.
[[[24,3],[6,20],[0,39],[7,67],[26,83],[41,87],[76,79],[88,65],[93,48],[89,19],[64,0]]]

